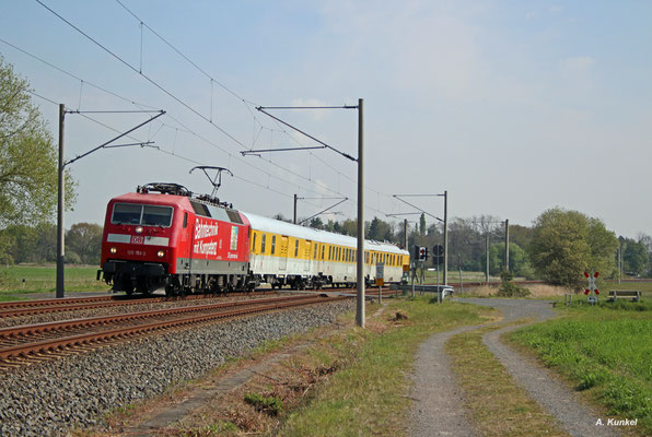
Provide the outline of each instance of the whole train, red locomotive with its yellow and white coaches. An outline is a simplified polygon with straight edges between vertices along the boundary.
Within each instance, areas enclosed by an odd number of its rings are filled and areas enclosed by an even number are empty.
[[[101,277],[114,292],[167,296],[253,291],[267,283],[323,288],[357,283],[357,239],[237,211],[184,186],[153,182],[109,200]],[[409,252],[364,241],[364,281],[399,282]]]

